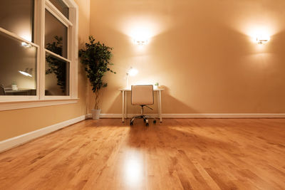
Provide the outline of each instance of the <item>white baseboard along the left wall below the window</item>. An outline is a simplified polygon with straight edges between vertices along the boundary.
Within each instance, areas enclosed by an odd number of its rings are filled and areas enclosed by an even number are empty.
[[[37,137],[41,137],[45,134],[54,132],[54,131],[59,130],[63,127],[67,127],[68,125],[72,125],[76,122],[86,120],[87,118],[88,118],[87,115],[82,115],[81,117],[76,117],[74,119],[67,120],[64,122],[60,122],[60,123],[57,123],[55,125],[51,125],[48,127],[44,127],[44,128],[41,128],[41,129],[33,131],[33,132],[28,132],[26,134],[21,134],[17,137],[12,137],[10,139],[6,139],[6,140],[0,142],[0,152],[3,152],[7,149],[11,149],[13,147],[17,147],[21,144],[24,144],[28,141],[31,141],[32,139],[36,139]]]

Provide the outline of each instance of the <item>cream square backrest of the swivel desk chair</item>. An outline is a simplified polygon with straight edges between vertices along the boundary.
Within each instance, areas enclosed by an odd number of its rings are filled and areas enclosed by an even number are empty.
[[[132,105],[152,105],[153,85],[132,85]]]

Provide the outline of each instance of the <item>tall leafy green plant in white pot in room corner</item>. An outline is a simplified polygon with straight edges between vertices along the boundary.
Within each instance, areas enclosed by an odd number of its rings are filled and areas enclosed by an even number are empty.
[[[89,36],[89,43],[85,44],[85,49],[79,51],[79,57],[81,58],[81,63],[86,65],[87,77],[90,80],[93,93],[95,93],[95,106],[92,112],[93,120],[98,120],[100,118],[100,89],[107,87],[107,83],[103,81],[103,76],[106,72],[115,72],[109,68],[110,59],[112,58],[111,50],[112,48],[105,46],[104,43],[100,41],[95,42],[93,36]]]

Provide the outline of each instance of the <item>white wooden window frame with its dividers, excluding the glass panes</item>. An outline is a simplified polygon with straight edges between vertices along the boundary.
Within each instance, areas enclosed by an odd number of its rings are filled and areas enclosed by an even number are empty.
[[[63,16],[49,0],[36,0],[34,10],[34,43],[21,36],[0,28],[3,33],[24,41],[37,48],[36,96],[9,95],[0,96],[1,110],[16,110],[28,107],[63,105],[78,102],[78,6],[73,0],[63,0],[69,8],[69,19]],[[63,58],[45,49],[45,11],[49,11],[61,23],[68,27],[68,57]],[[45,95],[46,52],[69,62],[69,95]]]

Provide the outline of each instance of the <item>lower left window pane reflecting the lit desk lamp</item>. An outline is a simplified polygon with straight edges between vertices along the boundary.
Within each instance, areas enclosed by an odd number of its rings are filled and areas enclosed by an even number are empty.
[[[0,95],[36,95],[37,48],[0,32]]]

